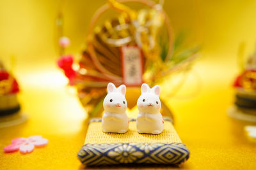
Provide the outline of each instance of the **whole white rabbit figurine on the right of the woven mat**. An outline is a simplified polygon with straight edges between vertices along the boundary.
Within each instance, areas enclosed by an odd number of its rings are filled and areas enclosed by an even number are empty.
[[[152,89],[146,83],[141,85],[141,96],[137,101],[140,113],[136,122],[139,133],[160,134],[163,132],[164,120],[160,113],[161,101],[159,94],[159,85],[154,86]]]

